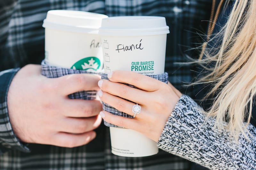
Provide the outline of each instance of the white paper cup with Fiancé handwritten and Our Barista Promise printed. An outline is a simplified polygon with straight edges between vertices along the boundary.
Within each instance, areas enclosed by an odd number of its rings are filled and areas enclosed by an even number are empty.
[[[102,19],[99,30],[105,73],[115,70],[144,75],[164,73],[169,33],[164,17],[109,17]],[[110,127],[110,137],[111,152],[115,155],[143,157],[158,152],[156,142],[131,129]]]

